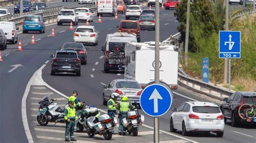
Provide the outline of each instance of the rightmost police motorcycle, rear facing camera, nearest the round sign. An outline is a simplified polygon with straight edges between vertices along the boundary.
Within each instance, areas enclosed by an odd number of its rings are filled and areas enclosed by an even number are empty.
[[[123,124],[129,134],[132,133],[133,136],[138,136],[139,125],[142,125],[144,120],[144,115],[139,115],[136,104],[136,109],[127,112],[126,118],[124,118],[120,124]]]

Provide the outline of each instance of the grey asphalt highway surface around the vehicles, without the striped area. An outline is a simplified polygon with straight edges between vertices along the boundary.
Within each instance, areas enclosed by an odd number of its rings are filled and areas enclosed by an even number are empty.
[[[173,16],[172,10],[160,10],[160,40],[164,40],[171,34],[177,33],[179,23]],[[106,110],[106,106],[102,105],[102,83],[109,84],[113,79],[123,78],[122,73],[103,72],[103,53],[100,47],[104,45],[106,34],[117,32],[116,26],[120,19],[124,19],[124,15],[118,15],[119,19],[114,20],[113,17],[102,17],[103,23],[90,23],[94,25],[99,33],[98,46],[86,45],[88,49],[87,65],[82,66],[82,75],[80,77],[72,75],[50,75],[50,62],[43,69],[43,80],[51,87],[69,96],[72,90],[78,90],[79,98],[88,104],[95,104],[97,108]],[[79,23],[82,25],[85,23]],[[51,28],[55,27],[56,37],[50,37]],[[154,31],[142,31],[142,41],[153,41]],[[35,71],[40,68],[45,61],[50,60],[49,55],[53,54],[57,48],[62,46],[64,42],[72,41],[72,31],[69,25],[57,26],[56,24],[46,27],[46,33],[35,34],[36,44],[30,44],[31,34],[19,34],[19,40],[22,40],[23,51],[17,51],[18,45],[8,45],[8,49],[2,52],[3,61],[0,62],[0,111],[2,120],[0,122],[0,142],[27,142],[24,132],[21,101],[25,91],[26,84],[30,80]],[[18,67],[11,73],[8,73],[12,65],[21,64],[24,67]],[[94,71],[92,69],[95,69]],[[91,76],[93,75],[93,76]],[[188,99],[187,97],[190,97]],[[171,108],[177,108],[181,103],[192,100],[205,101],[193,95],[190,91],[179,87],[174,92],[174,102]],[[28,105],[29,103],[27,103]],[[140,113],[143,111],[140,110]],[[169,131],[169,121],[171,111],[160,117],[160,129]],[[29,113],[27,113],[29,114]],[[145,115],[145,113],[143,113]],[[35,117],[28,116],[29,120]],[[153,126],[153,118],[146,116],[145,124]],[[54,127],[52,128],[54,129]],[[189,137],[185,137],[198,142],[255,142],[255,128],[231,127],[230,124],[225,126],[223,138],[218,138],[215,134],[197,134],[194,133]],[[31,131],[32,132],[32,131]],[[36,132],[32,132],[32,135]],[[181,133],[175,133],[181,136]],[[35,138],[33,136],[33,138]]]

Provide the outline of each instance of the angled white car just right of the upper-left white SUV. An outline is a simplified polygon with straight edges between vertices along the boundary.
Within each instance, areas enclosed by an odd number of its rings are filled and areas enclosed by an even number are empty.
[[[93,13],[92,11],[90,11],[87,8],[77,8],[75,10],[77,17],[78,17],[78,21],[83,20],[86,21],[88,20],[89,22],[93,21]]]

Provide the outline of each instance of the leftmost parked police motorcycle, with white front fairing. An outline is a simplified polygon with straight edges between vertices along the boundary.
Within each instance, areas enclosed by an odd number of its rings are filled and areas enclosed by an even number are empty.
[[[42,126],[46,126],[49,122],[53,123],[65,123],[64,109],[61,109],[55,99],[49,99],[50,95],[44,96],[41,101],[39,101],[37,122]]]

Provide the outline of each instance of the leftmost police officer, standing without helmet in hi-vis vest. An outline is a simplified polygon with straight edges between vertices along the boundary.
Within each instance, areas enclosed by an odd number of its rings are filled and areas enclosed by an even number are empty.
[[[77,121],[78,118],[76,116],[76,109],[73,108],[73,104],[73,101],[69,101],[69,106],[64,111],[64,120],[66,122],[65,141],[70,141],[69,134],[71,141],[77,141],[74,136],[74,128],[75,121]]]

